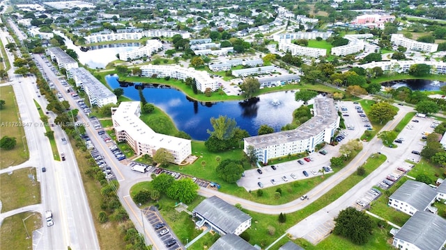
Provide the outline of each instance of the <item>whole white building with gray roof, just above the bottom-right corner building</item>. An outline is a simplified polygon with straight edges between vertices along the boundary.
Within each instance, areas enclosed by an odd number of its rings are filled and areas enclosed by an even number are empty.
[[[417,211],[429,210],[436,197],[437,192],[429,185],[408,180],[389,197],[387,205],[412,216]]]

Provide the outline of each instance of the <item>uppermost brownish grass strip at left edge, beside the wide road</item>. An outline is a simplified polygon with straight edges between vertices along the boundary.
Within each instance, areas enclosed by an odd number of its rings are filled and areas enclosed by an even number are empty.
[[[15,102],[15,94],[12,86],[0,88],[0,99],[5,101],[5,105],[0,110],[0,138],[7,135],[14,137],[17,144],[11,150],[0,149],[0,169],[24,163],[29,158],[26,144],[25,132],[22,126],[18,126],[20,121],[19,109]]]

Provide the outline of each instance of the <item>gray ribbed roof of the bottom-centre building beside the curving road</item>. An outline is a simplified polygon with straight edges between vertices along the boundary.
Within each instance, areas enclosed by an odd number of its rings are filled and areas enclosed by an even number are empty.
[[[234,233],[240,224],[252,219],[235,206],[216,196],[201,201],[194,209],[194,213],[198,213],[208,222],[222,229],[224,233]]]

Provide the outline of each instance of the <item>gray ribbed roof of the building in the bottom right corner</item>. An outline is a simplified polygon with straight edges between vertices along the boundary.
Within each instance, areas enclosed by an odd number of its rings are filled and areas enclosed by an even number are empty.
[[[433,213],[418,211],[394,236],[420,249],[441,249],[446,242],[446,219]]]

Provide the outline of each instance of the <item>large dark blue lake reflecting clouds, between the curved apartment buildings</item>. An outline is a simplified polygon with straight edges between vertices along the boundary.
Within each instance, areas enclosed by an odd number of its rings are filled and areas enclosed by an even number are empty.
[[[105,77],[113,89],[120,88],[117,79],[117,76]],[[125,97],[139,101],[139,92],[134,86],[121,88]],[[280,131],[282,126],[291,123],[293,111],[302,105],[302,101],[295,101],[295,93],[291,91],[262,94],[251,103],[192,101],[183,92],[167,88],[144,88],[142,91],[148,103],[164,110],[174,120],[178,130],[185,131],[194,140],[208,140],[206,131],[213,131],[210,118],[219,115],[235,119],[237,125],[248,131],[249,135],[257,135],[263,124]]]

